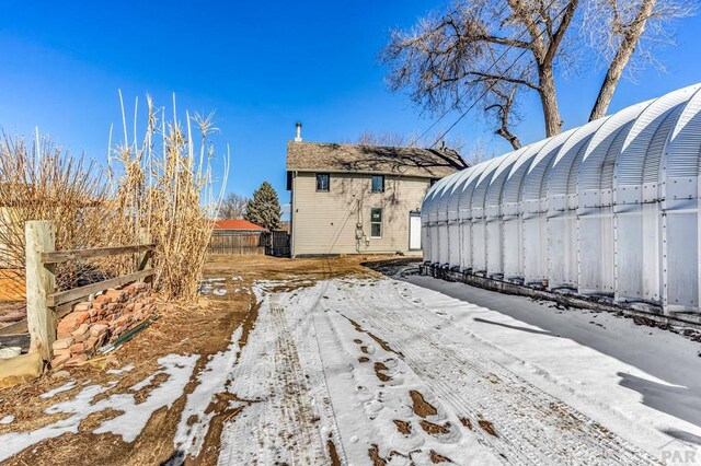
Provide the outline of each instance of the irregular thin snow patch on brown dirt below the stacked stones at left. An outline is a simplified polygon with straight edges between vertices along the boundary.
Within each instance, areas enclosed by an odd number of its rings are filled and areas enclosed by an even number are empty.
[[[47,415],[68,413],[69,417],[28,432],[10,432],[0,435],[0,462],[44,440],[54,439],[65,433],[77,433],[80,423],[90,415],[113,409],[119,416],[104,421],[93,433],[114,433],[122,435],[125,442],[133,442],[141,432],[151,415],[162,407],[170,407],[182,395],[189,381],[197,356],[169,354],[158,360],[162,366],[160,372],[168,374],[168,380],[153,388],[143,403],[137,404],[134,395],[115,394],[94,401],[95,397],[114,388],[117,382],[101,385],[89,385],[73,398],[48,407]]]

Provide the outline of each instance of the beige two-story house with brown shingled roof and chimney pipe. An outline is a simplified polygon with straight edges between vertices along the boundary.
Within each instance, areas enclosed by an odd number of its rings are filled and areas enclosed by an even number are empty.
[[[421,205],[467,165],[451,150],[287,143],[292,257],[421,254]]]

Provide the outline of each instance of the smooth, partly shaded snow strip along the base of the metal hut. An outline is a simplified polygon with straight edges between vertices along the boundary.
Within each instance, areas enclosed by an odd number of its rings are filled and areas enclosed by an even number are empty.
[[[448,315],[441,317],[455,327],[505,353],[509,368],[622,415],[617,422],[621,432],[631,431],[634,424],[627,419],[633,418],[659,432],[681,430],[701,440],[698,342],[610,313],[561,311],[551,303],[428,277],[407,280],[445,293],[412,287],[426,307],[444,310]],[[665,439],[654,440],[662,444]]]

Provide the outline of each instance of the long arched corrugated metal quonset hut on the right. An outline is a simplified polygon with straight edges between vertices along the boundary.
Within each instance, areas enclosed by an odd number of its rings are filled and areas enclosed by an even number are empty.
[[[476,164],[422,207],[427,264],[699,312],[701,84]]]

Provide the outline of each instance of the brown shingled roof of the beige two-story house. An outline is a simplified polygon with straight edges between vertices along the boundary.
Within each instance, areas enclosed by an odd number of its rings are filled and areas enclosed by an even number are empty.
[[[287,142],[288,172],[367,173],[443,178],[467,164],[450,149]]]

